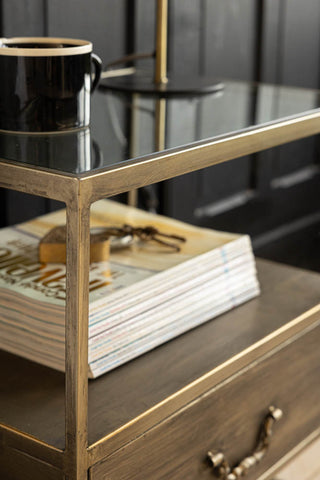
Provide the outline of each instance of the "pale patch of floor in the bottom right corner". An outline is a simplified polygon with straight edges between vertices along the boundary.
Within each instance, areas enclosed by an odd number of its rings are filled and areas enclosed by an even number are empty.
[[[274,480],[320,480],[320,439],[289,462]]]

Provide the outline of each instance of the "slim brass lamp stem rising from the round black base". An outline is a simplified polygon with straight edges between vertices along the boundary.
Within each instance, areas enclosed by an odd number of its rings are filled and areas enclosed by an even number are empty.
[[[167,83],[168,0],[157,0],[155,83]]]

